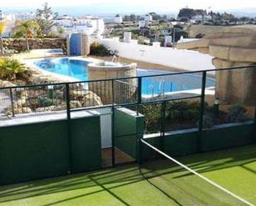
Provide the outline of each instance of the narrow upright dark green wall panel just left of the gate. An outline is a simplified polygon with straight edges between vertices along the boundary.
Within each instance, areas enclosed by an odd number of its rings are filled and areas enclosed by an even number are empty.
[[[97,170],[101,167],[99,116],[71,120],[72,172]]]

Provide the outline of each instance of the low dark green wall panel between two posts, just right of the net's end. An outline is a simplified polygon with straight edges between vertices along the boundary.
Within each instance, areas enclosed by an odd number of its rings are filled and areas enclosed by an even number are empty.
[[[170,156],[186,156],[198,151],[198,131],[173,132],[166,135],[163,150]]]

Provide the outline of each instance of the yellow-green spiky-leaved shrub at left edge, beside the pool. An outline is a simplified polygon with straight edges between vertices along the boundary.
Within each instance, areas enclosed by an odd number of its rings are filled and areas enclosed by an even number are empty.
[[[11,58],[0,59],[0,78],[1,79],[17,79],[26,74],[26,67],[18,60]]]

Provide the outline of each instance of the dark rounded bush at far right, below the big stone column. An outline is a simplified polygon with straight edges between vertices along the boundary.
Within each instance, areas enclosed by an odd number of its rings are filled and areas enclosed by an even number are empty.
[[[227,114],[227,119],[229,122],[243,122],[247,118],[247,109],[239,104],[229,108],[229,113]]]

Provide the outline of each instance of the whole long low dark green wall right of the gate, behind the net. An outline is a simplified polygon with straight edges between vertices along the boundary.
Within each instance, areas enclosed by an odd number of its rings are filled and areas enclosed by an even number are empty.
[[[149,137],[145,140],[161,148],[162,137]],[[236,146],[253,144],[256,140],[255,124],[248,122],[244,124],[229,125],[229,127],[218,127],[201,132],[172,132],[171,135],[163,137],[163,151],[170,156],[186,156],[198,152],[215,151]],[[143,159],[152,158],[155,153],[142,146]]]

